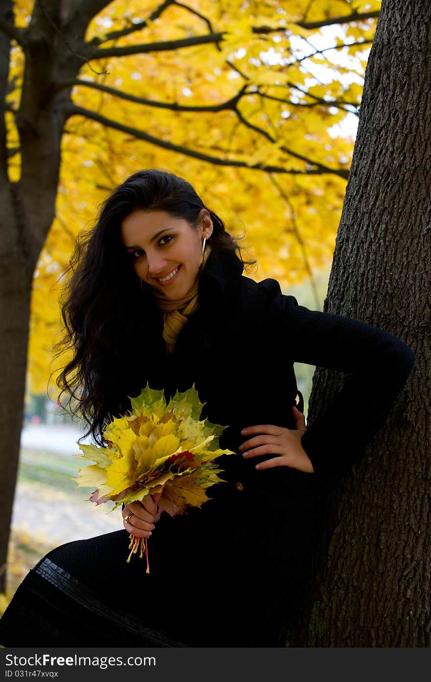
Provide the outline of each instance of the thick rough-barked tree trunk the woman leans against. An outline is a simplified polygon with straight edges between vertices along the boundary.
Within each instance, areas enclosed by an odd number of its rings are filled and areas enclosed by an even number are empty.
[[[325,480],[312,589],[288,646],[431,644],[430,42],[428,3],[383,0],[324,310],[391,331],[417,361],[363,458]],[[340,381],[316,370],[310,423]]]

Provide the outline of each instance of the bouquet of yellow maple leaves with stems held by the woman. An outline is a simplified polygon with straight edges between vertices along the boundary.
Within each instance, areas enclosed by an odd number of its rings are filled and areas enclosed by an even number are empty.
[[[159,492],[159,510],[170,516],[203,505],[209,499],[205,490],[223,480],[214,460],[234,454],[218,448],[225,427],[199,420],[203,403],[194,385],[177,391],[167,405],[163,391],[149,385],[130,400],[132,412],[113,419],[104,430],[108,447],[78,443],[83,454],[76,457],[95,464],[79,469],[74,481],[81,487],[97,486],[90,501],[99,505],[112,500],[113,509]],[[147,538],[130,534],[127,561],[139,546],[149,573]]]

